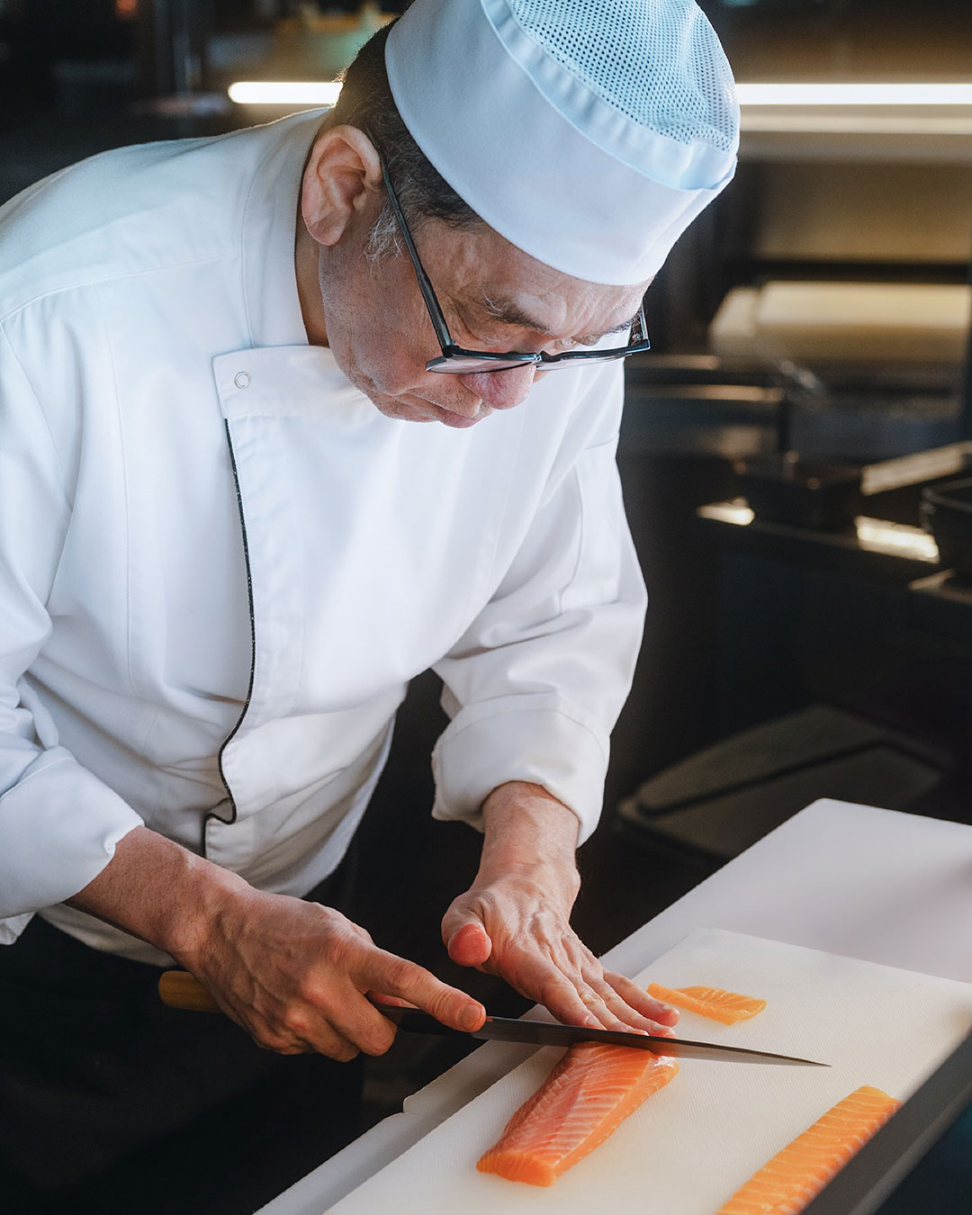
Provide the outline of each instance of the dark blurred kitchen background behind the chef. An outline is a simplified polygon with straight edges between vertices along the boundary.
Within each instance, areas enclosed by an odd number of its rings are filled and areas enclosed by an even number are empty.
[[[651,595],[576,922],[597,951],[818,797],[972,821],[968,0],[708,0],[751,84],[955,84],[751,104],[731,187],[646,296],[618,463]],[[123,143],[300,108],[396,10],[0,0],[0,202]],[[953,488],[953,486],[957,486]],[[429,819],[443,718],[416,680],[361,831],[357,914],[457,976],[439,919],[476,840]],[[397,1047],[396,1047],[397,1050]],[[374,1064],[375,1117],[448,1061]]]

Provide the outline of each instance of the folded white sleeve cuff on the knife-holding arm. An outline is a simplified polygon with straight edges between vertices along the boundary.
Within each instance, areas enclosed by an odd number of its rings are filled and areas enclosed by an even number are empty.
[[[0,917],[63,903],[143,820],[67,751],[45,751],[0,797]]]

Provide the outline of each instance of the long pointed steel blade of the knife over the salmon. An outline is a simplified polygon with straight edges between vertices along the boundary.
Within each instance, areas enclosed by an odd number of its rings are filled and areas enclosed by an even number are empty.
[[[587,1025],[561,1025],[555,1021],[516,1021],[513,1017],[487,1017],[481,1029],[468,1033],[451,1029],[441,1021],[418,1008],[378,1004],[375,1008],[400,1029],[413,1034],[437,1034],[446,1038],[468,1036],[502,1042],[532,1042],[537,1046],[573,1046],[575,1042],[608,1042],[612,1046],[634,1046],[683,1059],[720,1059],[725,1063],[775,1063],[786,1067],[830,1067],[814,1059],[793,1055],[753,1051],[746,1046],[724,1046],[722,1042],[695,1042],[685,1038],[656,1034],[626,1034],[617,1029],[589,1029]]]

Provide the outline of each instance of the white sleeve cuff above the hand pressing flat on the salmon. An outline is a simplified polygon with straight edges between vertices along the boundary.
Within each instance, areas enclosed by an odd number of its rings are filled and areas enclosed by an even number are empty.
[[[433,751],[436,819],[482,830],[482,803],[510,780],[541,785],[581,823],[583,843],[600,815],[606,735],[556,696],[508,696],[462,710]]]

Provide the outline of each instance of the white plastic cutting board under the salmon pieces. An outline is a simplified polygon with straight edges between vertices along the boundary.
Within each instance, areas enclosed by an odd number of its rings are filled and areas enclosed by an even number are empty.
[[[683,1012],[683,1038],[830,1068],[683,1059],[679,1074],[549,1188],[476,1171],[563,1055],[537,1051],[330,1208],[334,1215],[514,1215],[598,1209],[713,1215],[774,1153],[861,1084],[908,1097],[972,1027],[972,984],[722,929],[693,932],[642,985],[720,987],[765,999],[752,1021]]]

